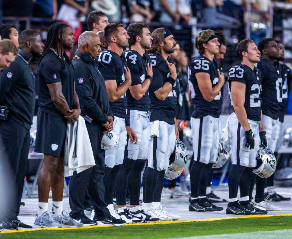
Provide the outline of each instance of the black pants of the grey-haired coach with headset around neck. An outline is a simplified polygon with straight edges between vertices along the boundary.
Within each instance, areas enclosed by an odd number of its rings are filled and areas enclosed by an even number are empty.
[[[70,215],[78,218],[84,214],[83,202],[88,190],[91,202],[94,207],[95,215],[107,217],[110,212],[105,203],[104,178],[104,154],[105,151],[100,148],[102,139],[102,127],[91,122],[86,122],[86,127],[94,155],[95,166],[84,170],[83,172],[73,173],[69,185],[69,204],[71,208]]]

